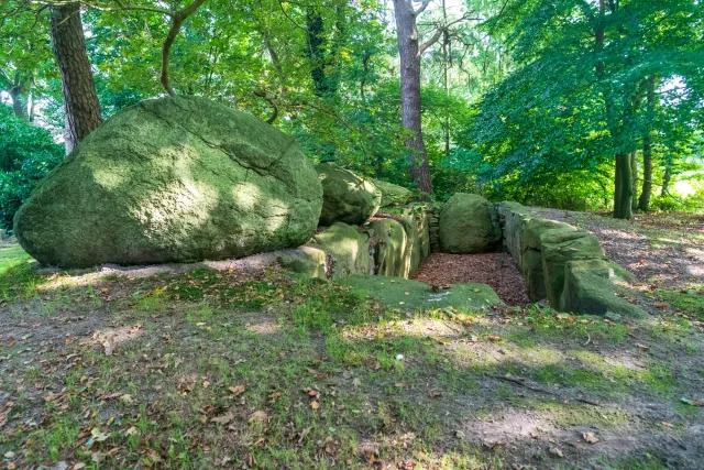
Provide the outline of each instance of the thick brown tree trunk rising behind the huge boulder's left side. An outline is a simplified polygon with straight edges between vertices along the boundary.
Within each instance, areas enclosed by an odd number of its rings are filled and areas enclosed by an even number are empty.
[[[62,76],[66,112],[66,153],[102,122],[100,102],[92,80],[80,4],[54,7],[51,17],[52,47]]]

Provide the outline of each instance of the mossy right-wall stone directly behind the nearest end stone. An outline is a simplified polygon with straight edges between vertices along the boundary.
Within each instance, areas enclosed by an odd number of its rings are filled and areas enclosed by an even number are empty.
[[[568,261],[604,258],[598,239],[584,230],[560,228],[540,236],[542,272],[548,302],[553,307],[560,305],[564,287],[564,265]]]

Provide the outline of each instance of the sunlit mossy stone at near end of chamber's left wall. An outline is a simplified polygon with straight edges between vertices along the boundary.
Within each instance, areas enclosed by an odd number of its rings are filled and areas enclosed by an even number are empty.
[[[307,245],[320,249],[331,258],[328,267],[331,277],[374,272],[369,236],[356,227],[336,222],[317,233]]]

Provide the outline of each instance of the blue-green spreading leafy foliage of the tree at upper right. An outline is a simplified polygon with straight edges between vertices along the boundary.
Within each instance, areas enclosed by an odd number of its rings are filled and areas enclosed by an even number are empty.
[[[702,119],[701,9],[609,4],[600,13],[578,0],[516,2],[486,23],[510,32],[519,67],[484,96],[455,167],[477,168],[496,194],[583,208],[608,196],[614,155],[638,151],[644,135],[663,166],[688,153]],[[659,84],[653,112],[645,106],[649,79]]]

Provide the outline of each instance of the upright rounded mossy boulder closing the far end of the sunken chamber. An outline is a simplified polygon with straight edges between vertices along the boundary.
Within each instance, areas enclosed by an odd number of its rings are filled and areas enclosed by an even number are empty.
[[[440,210],[440,250],[483,253],[498,248],[502,231],[494,205],[475,194],[458,193]]]

